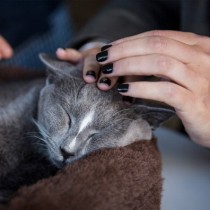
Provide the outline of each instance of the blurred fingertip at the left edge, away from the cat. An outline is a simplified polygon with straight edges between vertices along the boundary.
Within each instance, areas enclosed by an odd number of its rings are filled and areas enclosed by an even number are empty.
[[[0,60],[11,58],[13,49],[10,44],[0,35]]]

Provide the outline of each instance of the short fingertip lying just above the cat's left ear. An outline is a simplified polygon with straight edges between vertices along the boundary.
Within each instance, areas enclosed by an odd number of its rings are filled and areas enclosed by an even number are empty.
[[[56,50],[56,55],[59,59],[69,61],[72,63],[78,63],[83,57],[81,52],[72,48],[68,49],[58,48]]]

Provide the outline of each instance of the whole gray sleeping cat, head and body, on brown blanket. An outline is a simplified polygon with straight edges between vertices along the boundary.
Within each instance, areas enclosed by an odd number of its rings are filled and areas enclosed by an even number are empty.
[[[152,129],[174,114],[139,101],[124,103],[114,89],[103,92],[86,84],[81,64],[40,58],[48,68],[46,82],[0,83],[0,202],[20,186],[53,175],[54,166],[150,140]],[[39,139],[27,135],[37,135],[35,125]]]

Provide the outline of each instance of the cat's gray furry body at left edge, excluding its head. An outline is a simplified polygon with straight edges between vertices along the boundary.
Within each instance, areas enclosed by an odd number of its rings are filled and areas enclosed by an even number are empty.
[[[38,131],[32,119],[43,85],[44,80],[0,82],[0,203],[54,170],[34,138]]]

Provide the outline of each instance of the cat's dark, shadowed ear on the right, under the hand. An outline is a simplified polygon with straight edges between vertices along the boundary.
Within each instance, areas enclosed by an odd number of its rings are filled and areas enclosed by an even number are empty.
[[[167,105],[161,103],[139,103],[135,102],[133,105],[137,115],[146,120],[151,128],[154,130],[163,122],[175,115],[175,110]]]

